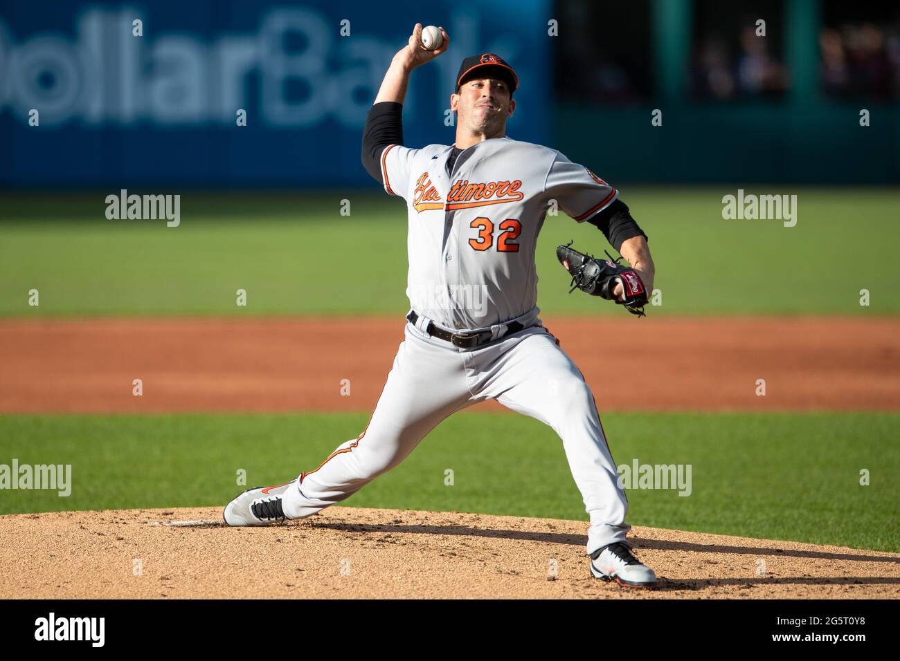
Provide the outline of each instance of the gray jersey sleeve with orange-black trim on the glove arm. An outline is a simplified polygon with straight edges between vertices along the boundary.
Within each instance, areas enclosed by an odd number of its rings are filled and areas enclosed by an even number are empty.
[[[591,219],[618,196],[615,188],[587,167],[572,163],[559,152],[547,172],[544,191],[547,199],[555,200],[560,209],[578,222]]]

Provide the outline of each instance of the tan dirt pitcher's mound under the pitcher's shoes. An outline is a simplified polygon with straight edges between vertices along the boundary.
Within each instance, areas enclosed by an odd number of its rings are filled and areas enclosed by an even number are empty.
[[[900,554],[636,526],[661,576],[590,577],[587,523],[331,507],[228,528],[218,507],[0,517],[2,598],[900,597]]]

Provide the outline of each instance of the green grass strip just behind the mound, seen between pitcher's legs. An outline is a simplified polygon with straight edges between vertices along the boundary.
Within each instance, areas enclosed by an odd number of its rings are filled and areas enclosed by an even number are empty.
[[[72,464],[71,496],[0,491],[0,513],[224,505],[311,469],[367,415],[0,416],[0,463]],[[631,489],[630,523],[900,551],[896,414],[608,414],[617,464],[690,464],[690,496]],[[445,485],[445,471],[454,485]],[[868,469],[870,485],[860,486]],[[464,413],[346,505],[586,521],[561,443]]]

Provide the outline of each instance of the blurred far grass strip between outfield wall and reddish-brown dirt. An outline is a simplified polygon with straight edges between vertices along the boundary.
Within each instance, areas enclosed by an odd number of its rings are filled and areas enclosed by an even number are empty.
[[[782,187],[797,226],[722,219],[736,186],[635,188],[621,197],[650,236],[662,307],[652,314],[900,312],[900,192]],[[747,192],[778,192],[748,190]],[[184,193],[181,225],[106,220],[105,192],[0,199],[0,315],[401,314],[406,217],[386,195]],[[350,201],[350,216],[339,214]],[[548,218],[537,250],[547,314],[622,314],[581,292],[554,248],[602,255],[596,228]],[[40,307],[28,291],[40,291]],[[235,305],[247,290],[248,305]],[[860,290],[870,306],[860,307]]]

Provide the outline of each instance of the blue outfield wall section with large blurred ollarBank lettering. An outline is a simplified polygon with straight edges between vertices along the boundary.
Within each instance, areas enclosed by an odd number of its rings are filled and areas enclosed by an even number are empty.
[[[411,76],[407,144],[453,142],[449,96],[477,52],[496,52],[520,76],[510,137],[545,143],[551,6],[7,1],[0,187],[374,186],[359,158],[365,114],[416,22],[444,26],[451,47]]]

